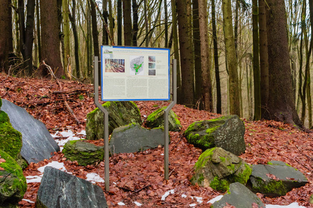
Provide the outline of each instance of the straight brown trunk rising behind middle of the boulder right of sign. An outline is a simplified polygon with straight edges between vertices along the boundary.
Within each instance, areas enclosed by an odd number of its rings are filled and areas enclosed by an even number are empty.
[[[201,71],[202,71],[202,98],[204,103],[204,110],[212,112],[212,80],[211,80],[211,63],[209,54],[209,40],[208,40],[208,15],[207,15],[207,1],[198,0],[199,8],[199,28],[201,40]]]

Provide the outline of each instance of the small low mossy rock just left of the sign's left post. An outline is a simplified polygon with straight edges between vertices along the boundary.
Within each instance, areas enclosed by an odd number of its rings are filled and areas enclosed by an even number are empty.
[[[63,146],[62,153],[71,160],[77,161],[81,166],[88,164],[95,164],[103,160],[104,150],[103,146],[95,146],[84,141],[67,141]]]

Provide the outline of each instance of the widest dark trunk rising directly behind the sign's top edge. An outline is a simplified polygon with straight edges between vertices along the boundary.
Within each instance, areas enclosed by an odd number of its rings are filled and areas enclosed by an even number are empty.
[[[124,46],[131,46],[132,28],[131,28],[131,2],[123,0],[123,21],[124,21]]]

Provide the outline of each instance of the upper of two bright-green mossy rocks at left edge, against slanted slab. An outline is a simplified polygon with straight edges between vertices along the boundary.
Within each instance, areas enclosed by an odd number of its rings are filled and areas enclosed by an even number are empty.
[[[0,110],[0,150],[18,159],[21,148],[22,134],[12,128],[8,114]]]

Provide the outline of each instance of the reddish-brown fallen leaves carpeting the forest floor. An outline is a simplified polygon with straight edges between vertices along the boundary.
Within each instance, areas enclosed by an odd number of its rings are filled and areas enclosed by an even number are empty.
[[[46,124],[51,134],[69,131],[74,133],[85,130],[86,114],[94,110],[93,86],[83,85],[75,81],[62,80],[63,91],[69,106],[81,122],[77,124],[67,111],[60,87],[55,80],[46,78],[15,78],[0,73],[0,96],[16,105],[24,107],[35,119]],[[136,102],[146,119],[151,112],[168,105],[167,102]],[[139,153],[124,153],[110,157],[110,191],[104,191],[104,183],[97,182],[105,194],[109,207],[119,207],[123,202],[125,207],[209,207],[207,203],[212,198],[223,193],[211,188],[192,186],[193,167],[201,150],[188,144],[183,136],[184,130],[194,121],[213,119],[219,114],[194,110],[183,105],[175,105],[174,112],[179,117],[183,128],[180,132],[170,132],[169,145],[169,180],[164,180],[163,148],[146,150]],[[309,199],[313,193],[313,133],[302,132],[285,123],[276,121],[246,121],[245,141],[246,153],[240,155],[249,164],[267,164],[271,160],[286,162],[300,170],[309,180],[304,186],[293,189],[286,196],[278,198],[264,197],[257,193],[264,204],[289,205],[298,202],[305,207],[310,205]],[[103,140],[90,141],[103,145]],[[56,153],[51,159],[45,159],[37,164],[30,164],[24,170],[24,175],[38,175],[37,168],[52,161],[63,162],[68,172],[86,179],[87,173],[104,175],[104,163],[95,166],[78,166]],[[28,183],[24,199],[19,207],[35,207],[37,190],[40,183]],[[170,191],[174,189],[174,191]],[[164,193],[169,192],[165,200]],[[201,198],[202,199],[201,199]],[[28,201],[29,200],[29,201]],[[121,205],[121,204],[120,204]]]

